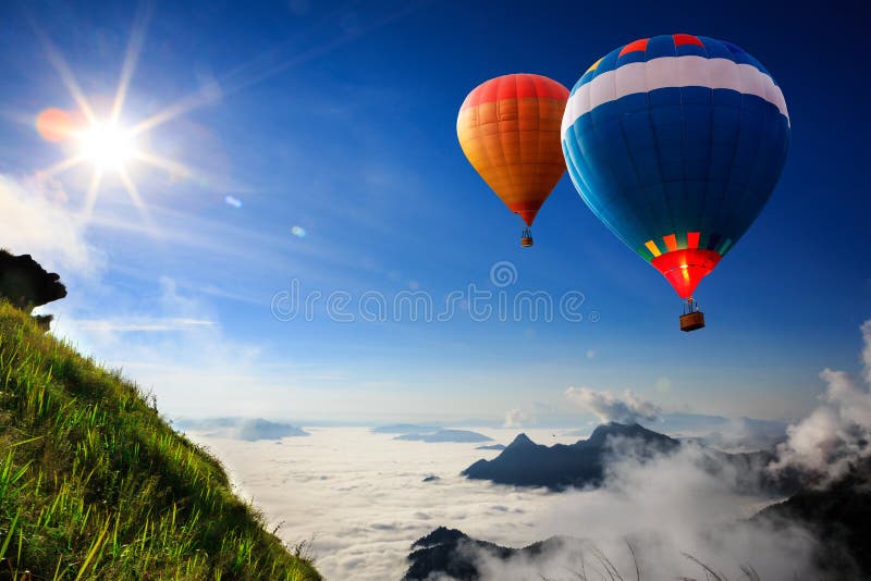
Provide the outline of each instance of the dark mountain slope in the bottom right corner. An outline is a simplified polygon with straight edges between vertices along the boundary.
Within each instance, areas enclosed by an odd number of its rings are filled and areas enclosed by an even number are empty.
[[[824,489],[805,487],[753,519],[798,522],[822,543],[820,567],[836,579],[871,579],[871,459]]]

